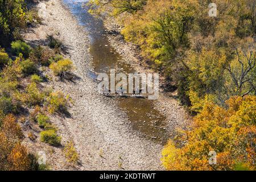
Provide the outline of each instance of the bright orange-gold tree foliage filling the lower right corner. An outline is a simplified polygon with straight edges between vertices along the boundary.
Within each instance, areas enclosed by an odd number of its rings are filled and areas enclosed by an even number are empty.
[[[255,170],[256,96],[232,97],[227,108],[208,102],[190,130],[162,151],[168,170]],[[209,164],[215,151],[217,164]]]

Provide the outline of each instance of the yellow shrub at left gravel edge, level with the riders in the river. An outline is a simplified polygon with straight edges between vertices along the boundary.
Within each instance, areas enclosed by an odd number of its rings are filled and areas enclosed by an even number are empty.
[[[63,92],[53,92],[49,94],[47,98],[48,110],[50,113],[55,113],[56,111],[66,111],[69,101],[69,96],[64,96]]]

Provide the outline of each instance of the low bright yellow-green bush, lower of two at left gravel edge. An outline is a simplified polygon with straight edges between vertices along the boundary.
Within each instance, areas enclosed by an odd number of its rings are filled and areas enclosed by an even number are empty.
[[[61,137],[58,137],[56,130],[46,130],[40,133],[40,140],[52,146],[59,146]]]

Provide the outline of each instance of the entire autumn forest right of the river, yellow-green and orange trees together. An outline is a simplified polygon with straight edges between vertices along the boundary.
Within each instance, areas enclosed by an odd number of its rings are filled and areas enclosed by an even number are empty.
[[[217,16],[209,16],[216,3]],[[163,150],[169,170],[255,170],[256,1],[92,0],[195,115]],[[209,165],[209,152],[218,163]]]

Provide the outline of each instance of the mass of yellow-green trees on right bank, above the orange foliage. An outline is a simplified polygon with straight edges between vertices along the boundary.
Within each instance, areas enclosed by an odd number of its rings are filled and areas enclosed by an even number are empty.
[[[177,88],[181,103],[198,113],[204,100],[223,106],[231,96],[256,92],[251,79],[256,74],[255,56],[250,58],[255,55],[255,0],[211,2],[217,6],[217,17],[209,16],[209,1],[91,0],[89,4],[105,15],[115,13],[121,34],[166,77],[167,90]],[[243,55],[241,45],[249,42]]]

